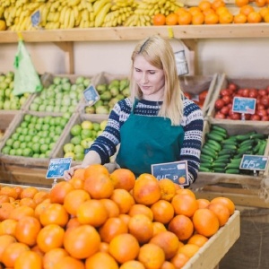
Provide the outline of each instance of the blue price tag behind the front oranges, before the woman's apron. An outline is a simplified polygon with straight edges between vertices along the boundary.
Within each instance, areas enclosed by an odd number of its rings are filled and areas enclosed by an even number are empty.
[[[169,178],[181,186],[188,186],[187,174],[187,161],[152,164],[152,175],[158,180]]]

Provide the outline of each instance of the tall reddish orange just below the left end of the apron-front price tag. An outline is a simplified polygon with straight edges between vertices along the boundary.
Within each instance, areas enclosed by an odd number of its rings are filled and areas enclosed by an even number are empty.
[[[136,204],[151,205],[161,198],[161,187],[151,174],[140,175],[134,184],[133,196]]]

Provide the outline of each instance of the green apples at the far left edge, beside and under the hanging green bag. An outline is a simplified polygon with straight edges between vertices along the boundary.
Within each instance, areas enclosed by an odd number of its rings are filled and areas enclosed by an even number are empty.
[[[19,110],[28,100],[30,93],[13,95],[14,73],[0,74],[0,109]]]

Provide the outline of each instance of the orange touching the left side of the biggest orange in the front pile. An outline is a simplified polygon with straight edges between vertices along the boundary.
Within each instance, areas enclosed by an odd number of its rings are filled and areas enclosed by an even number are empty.
[[[56,224],[48,224],[43,227],[37,237],[37,245],[44,252],[62,247],[64,243],[65,230]]]

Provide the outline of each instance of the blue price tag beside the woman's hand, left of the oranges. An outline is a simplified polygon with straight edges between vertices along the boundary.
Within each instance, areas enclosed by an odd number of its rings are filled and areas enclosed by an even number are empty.
[[[50,159],[46,178],[63,178],[65,170],[70,169],[72,158]]]

